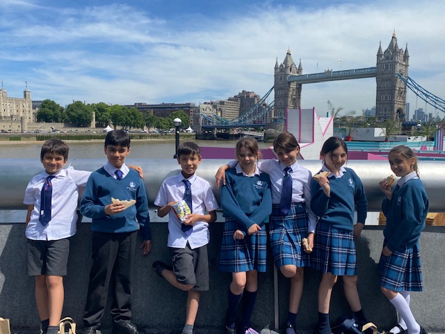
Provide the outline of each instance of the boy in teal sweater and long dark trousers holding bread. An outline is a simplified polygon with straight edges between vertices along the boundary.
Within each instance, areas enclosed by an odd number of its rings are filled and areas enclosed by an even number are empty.
[[[99,331],[112,277],[113,334],[137,334],[138,329],[131,324],[131,281],[138,230],[143,237],[143,255],[152,246],[147,194],[138,173],[125,164],[130,152],[126,132],[108,132],[104,152],[108,162],[91,174],[81,200],[81,213],[92,218],[93,260],[83,334]],[[126,209],[122,202],[112,202],[111,198],[136,200],[136,204]]]

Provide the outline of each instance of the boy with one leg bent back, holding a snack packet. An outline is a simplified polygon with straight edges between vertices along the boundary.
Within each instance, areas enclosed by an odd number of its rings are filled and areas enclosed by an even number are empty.
[[[200,147],[195,143],[179,145],[177,160],[181,173],[166,178],[154,200],[154,205],[159,207],[158,216],[169,214],[167,246],[173,267],[155,261],[153,269],[174,287],[188,292],[184,334],[193,333],[200,292],[209,289],[209,223],[216,221],[215,210],[218,209],[209,182],[196,175],[201,159]],[[181,223],[172,208],[183,199],[190,207],[191,214]]]

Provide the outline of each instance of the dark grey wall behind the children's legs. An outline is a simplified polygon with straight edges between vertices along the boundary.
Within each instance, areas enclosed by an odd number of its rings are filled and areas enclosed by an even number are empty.
[[[220,221],[218,219],[218,221]],[[137,251],[133,287],[133,321],[147,326],[158,333],[170,333],[181,329],[184,324],[186,293],[181,292],[157,276],[152,269],[154,260],[168,262],[166,248],[167,225],[153,223],[153,249],[146,257]],[[197,333],[223,331],[227,288],[230,275],[218,272],[218,253],[223,231],[223,223],[211,225],[209,264],[211,289],[202,293],[198,312]],[[417,321],[428,331],[444,331],[445,299],[444,290],[445,257],[440,245],[445,244],[445,228],[429,227],[421,237],[423,264],[423,292],[412,294],[412,311]],[[389,329],[396,323],[396,312],[380,293],[378,260],[382,245],[382,228],[368,227],[357,239],[359,266],[359,294],[364,312],[370,321],[380,329]],[[88,273],[90,270],[90,224],[79,223],[79,230],[72,238],[68,275],[65,278],[65,307],[63,315],[69,315],[81,328],[83,307],[86,300]],[[289,303],[289,280],[280,273],[277,277],[278,298],[274,297],[273,262],[268,257],[268,271],[259,274],[259,295],[252,318],[252,325],[261,328],[282,327],[286,319]],[[320,273],[307,269],[303,291],[298,329],[313,331],[317,321],[317,289]],[[24,224],[0,224],[0,316],[10,319],[14,330],[37,330],[38,314],[33,296],[33,278],[26,276],[26,250]],[[275,326],[275,303],[278,321]],[[331,321],[340,315],[350,315],[348,303],[344,299],[341,279],[334,287],[331,303]],[[106,312],[104,328],[110,328],[111,317]]]

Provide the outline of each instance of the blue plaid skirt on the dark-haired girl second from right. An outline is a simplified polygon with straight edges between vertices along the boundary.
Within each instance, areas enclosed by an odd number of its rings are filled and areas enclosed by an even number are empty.
[[[357,275],[354,232],[333,228],[326,221],[318,221],[311,267],[337,276]]]

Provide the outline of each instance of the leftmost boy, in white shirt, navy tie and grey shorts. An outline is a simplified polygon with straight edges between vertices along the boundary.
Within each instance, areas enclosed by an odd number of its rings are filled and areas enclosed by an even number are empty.
[[[67,274],[70,237],[76,233],[79,187],[90,172],[62,169],[68,145],[58,139],[45,141],[40,151],[44,172],[26,186],[27,273],[35,276],[35,303],[40,331],[57,334],[63,309],[63,276]]]

